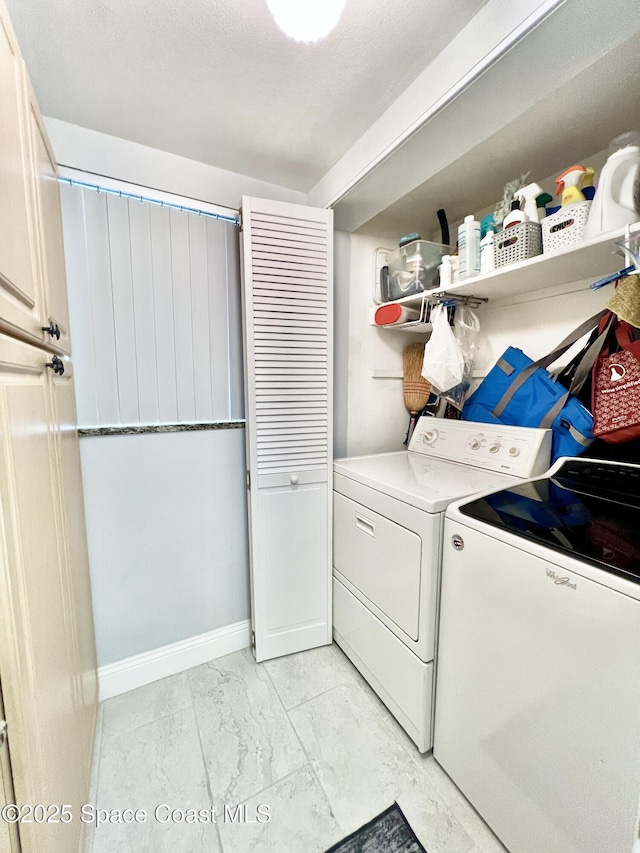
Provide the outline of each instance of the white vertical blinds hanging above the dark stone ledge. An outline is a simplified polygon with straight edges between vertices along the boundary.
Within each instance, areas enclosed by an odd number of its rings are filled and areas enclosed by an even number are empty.
[[[237,228],[63,184],[80,425],[242,417]]]

